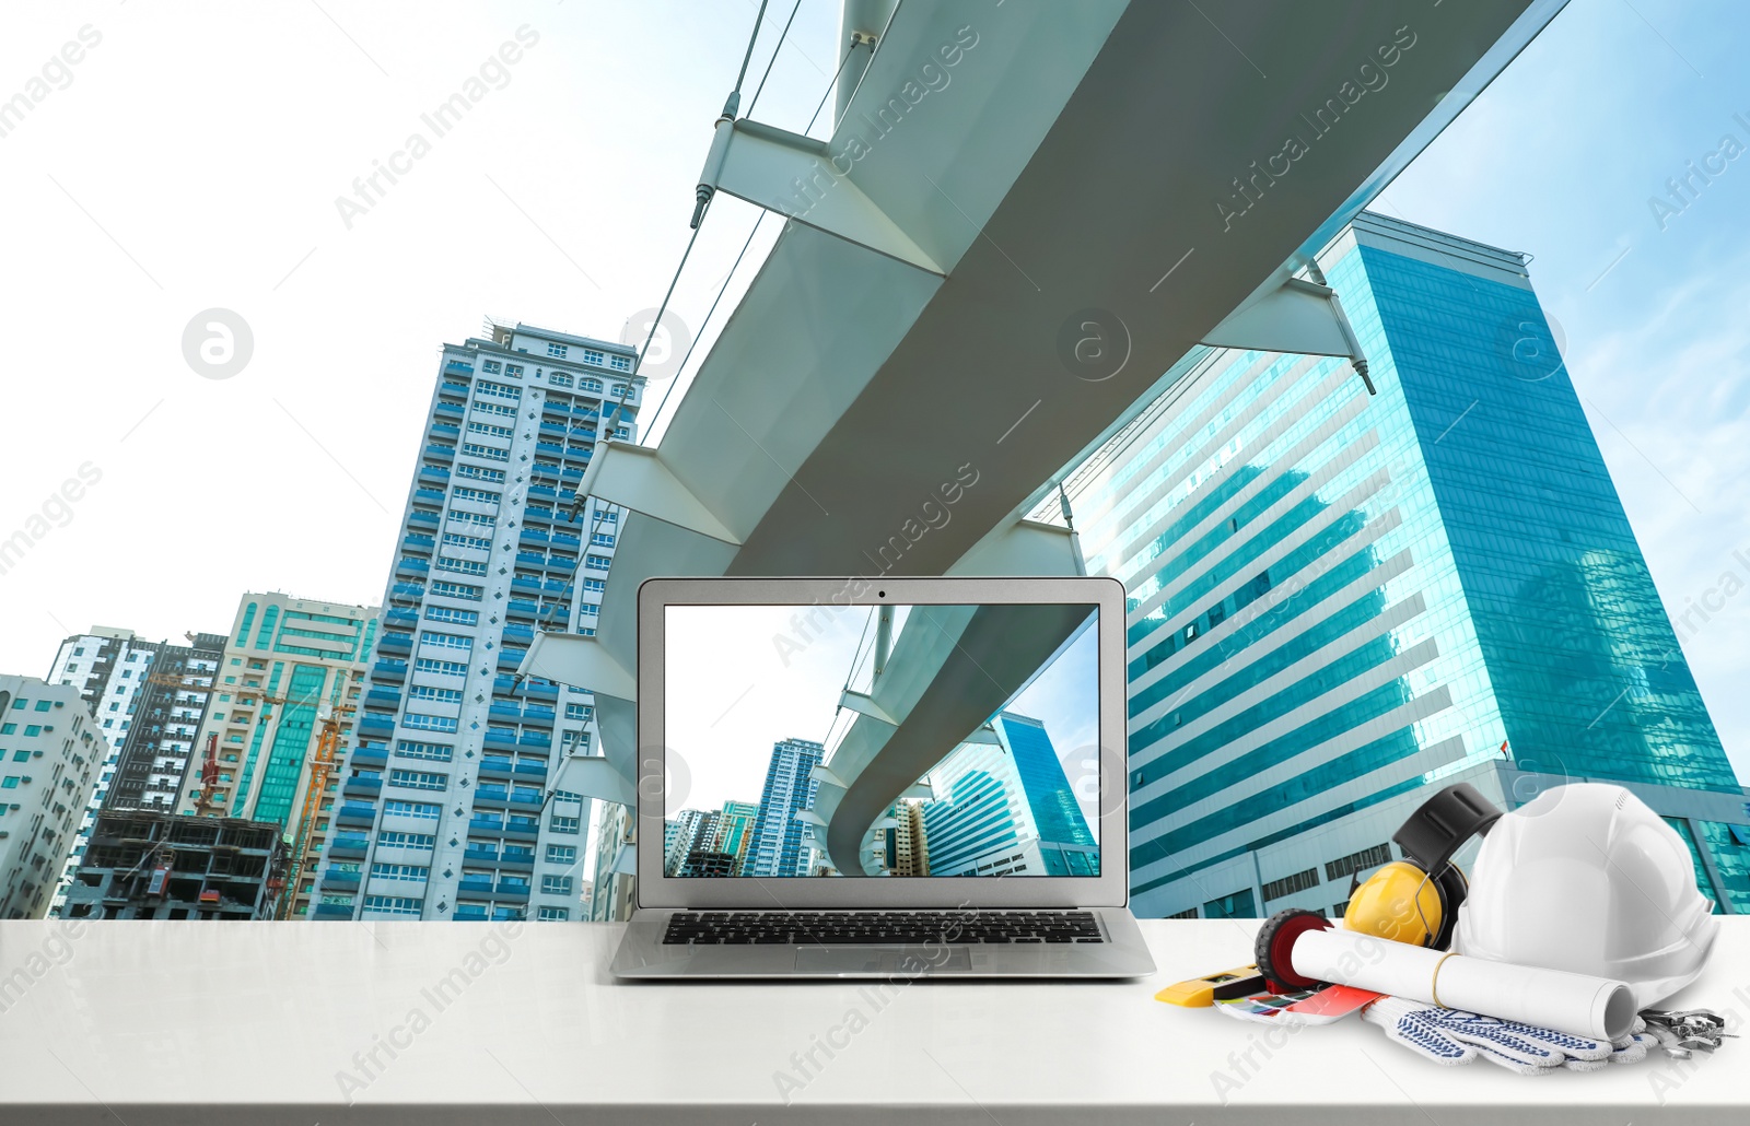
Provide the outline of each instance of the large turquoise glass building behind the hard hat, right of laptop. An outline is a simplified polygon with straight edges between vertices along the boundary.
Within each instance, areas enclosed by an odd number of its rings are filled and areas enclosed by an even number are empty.
[[[1746,792],[1528,261],[1362,215],[1320,264],[1377,395],[1339,358],[1199,353],[1066,483],[1129,589],[1139,914],[1339,911],[1435,789],[1577,780],[1750,911]]]

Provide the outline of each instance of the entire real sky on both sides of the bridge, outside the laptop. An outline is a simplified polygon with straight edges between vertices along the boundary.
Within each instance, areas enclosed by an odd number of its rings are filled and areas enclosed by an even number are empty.
[[[378,601],[439,346],[486,316],[620,339],[660,304],[756,7],[7,5],[0,100],[47,94],[0,136],[0,540],[32,539],[0,573],[0,670],[42,675],[91,624],[222,628],[245,589]],[[807,124],[836,12],[800,2],[754,117]],[[1648,203],[1724,136],[1750,147],[1746,56],[1738,0],[1573,0],[1376,208],[1535,255],[1750,778],[1750,159]],[[422,115],[474,80],[434,135]],[[732,275],[754,217],[714,205],[681,275],[695,365],[775,234]]]

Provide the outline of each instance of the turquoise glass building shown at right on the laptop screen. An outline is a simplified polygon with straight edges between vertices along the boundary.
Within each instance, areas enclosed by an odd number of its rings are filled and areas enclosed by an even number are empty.
[[[1099,844],[1045,726],[1001,712],[990,731],[994,741],[964,743],[929,771],[929,874],[1099,874]]]

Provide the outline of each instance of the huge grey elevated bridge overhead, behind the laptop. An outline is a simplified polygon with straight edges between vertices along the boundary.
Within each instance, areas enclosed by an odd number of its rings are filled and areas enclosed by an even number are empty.
[[[830,142],[719,124],[702,191],[786,227],[662,444],[604,442],[579,488],[630,512],[597,636],[542,635],[523,663],[595,691],[604,755],[564,789],[632,801],[646,577],[1074,573],[1073,539],[1020,514],[1174,364],[1250,346],[1365,378],[1312,252],[1563,3],[1012,0],[887,21],[852,0],[866,38]],[[875,817],[887,789],[838,804]],[[835,862],[849,825],[828,822]]]

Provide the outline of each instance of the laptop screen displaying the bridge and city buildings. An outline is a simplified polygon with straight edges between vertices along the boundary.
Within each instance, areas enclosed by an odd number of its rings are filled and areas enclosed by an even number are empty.
[[[1099,876],[1096,605],[663,614],[667,876]]]

